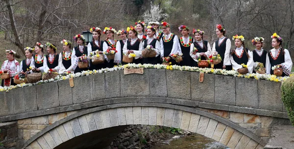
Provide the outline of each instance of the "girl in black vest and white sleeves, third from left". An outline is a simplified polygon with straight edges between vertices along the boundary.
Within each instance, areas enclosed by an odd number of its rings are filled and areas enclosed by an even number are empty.
[[[36,43],[35,45],[35,56],[30,64],[32,68],[30,73],[32,72],[47,72],[49,67],[47,65],[46,55],[44,54],[44,45],[41,43]]]

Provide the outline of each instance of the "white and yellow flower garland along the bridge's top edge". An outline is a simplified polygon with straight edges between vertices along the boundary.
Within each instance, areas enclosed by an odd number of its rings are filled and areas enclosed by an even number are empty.
[[[210,74],[234,76],[234,77],[239,77],[239,78],[251,78],[251,79],[256,79],[256,80],[269,80],[269,81],[274,81],[274,82],[283,82],[287,78],[289,78],[288,76],[277,77],[275,75],[258,74],[258,73],[252,73],[252,74],[247,73],[245,75],[242,75],[242,74],[239,74],[235,70],[199,68],[199,67],[191,67],[191,66],[164,65],[164,64],[124,64],[124,65],[120,65],[120,66],[115,66],[113,68],[102,68],[99,70],[87,70],[87,71],[82,71],[82,72],[78,72],[75,74],[67,72],[64,74],[59,74],[54,79],[49,79],[49,80],[45,80],[45,81],[41,80],[41,81],[38,81],[33,84],[23,83],[23,84],[19,84],[19,85],[11,85],[11,86],[5,86],[5,87],[0,86],[0,91],[9,91],[14,88],[38,85],[38,84],[61,81],[61,80],[68,80],[70,78],[89,76],[89,75],[93,75],[93,74],[100,74],[100,73],[106,73],[106,72],[111,72],[111,71],[118,71],[118,70],[123,70],[124,68],[129,68],[129,69],[154,68],[154,69],[167,69],[167,70],[179,70],[179,71],[190,71],[190,72],[204,72],[204,73],[210,73]],[[292,76],[292,75],[290,75],[290,76]]]

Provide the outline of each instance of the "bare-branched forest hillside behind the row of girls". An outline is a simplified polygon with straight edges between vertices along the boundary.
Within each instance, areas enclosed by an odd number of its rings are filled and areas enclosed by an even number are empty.
[[[20,62],[24,48],[36,42],[55,43],[60,52],[62,39],[73,42],[74,35],[90,27],[119,30],[139,20],[167,21],[179,37],[182,24],[192,37],[192,29],[200,29],[211,45],[217,39],[215,25],[222,24],[227,38],[243,35],[250,50],[254,37],[264,37],[269,51],[276,32],[294,60],[294,0],[1,0],[0,63],[6,60],[5,49],[17,51]]]

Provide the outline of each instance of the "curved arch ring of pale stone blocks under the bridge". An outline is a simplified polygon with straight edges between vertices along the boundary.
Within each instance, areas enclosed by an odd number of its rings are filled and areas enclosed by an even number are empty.
[[[217,115],[186,106],[153,103],[153,106],[114,104],[82,110],[43,129],[27,140],[22,149],[56,149],[93,131],[136,124],[181,128],[231,149],[263,149],[266,145],[256,135]]]

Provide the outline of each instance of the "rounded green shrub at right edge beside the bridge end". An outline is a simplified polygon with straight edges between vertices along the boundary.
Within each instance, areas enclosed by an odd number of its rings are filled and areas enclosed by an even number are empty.
[[[281,86],[282,100],[288,111],[289,119],[294,126],[294,76],[288,78]]]

